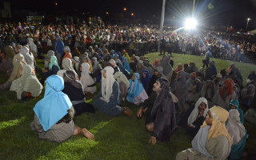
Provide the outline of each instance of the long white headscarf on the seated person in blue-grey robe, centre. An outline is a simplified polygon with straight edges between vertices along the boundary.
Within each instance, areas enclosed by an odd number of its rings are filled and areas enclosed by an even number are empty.
[[[103,72],[106,71],[106,78],[102,74],[102,100],[110,102],[110,97],[113,92],[114,80],[114,69],[111,66],[106,66]]]

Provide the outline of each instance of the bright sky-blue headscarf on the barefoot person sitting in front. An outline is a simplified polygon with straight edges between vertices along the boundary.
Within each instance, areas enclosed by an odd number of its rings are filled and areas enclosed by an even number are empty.
[[[51,75],[46,79],[44,98],[34,106],[34,113],[37,114],[45,131],[50,130],[51,126],[63,118],[72,106],[70,98],[62,92],[63,89],[63,78],[58,75]]]

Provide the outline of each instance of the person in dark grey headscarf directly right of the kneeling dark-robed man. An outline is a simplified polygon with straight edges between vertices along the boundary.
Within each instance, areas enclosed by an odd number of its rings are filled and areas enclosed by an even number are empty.
[[[183,70],[178,72],[177,79],[172,84],[170,90],[178,98],[178,106],[180,106],[182,111],[185,112],[187,86],[186,86],[186,76]]]

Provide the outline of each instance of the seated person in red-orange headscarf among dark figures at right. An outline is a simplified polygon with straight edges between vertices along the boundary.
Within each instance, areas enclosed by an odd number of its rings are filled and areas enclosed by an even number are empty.
[[[214,104],[226,109],[226,106],[230,104],[231,99],[235,99],[234,81],[227,78],[224,81],[222,88],[214,95],[213,102]]]

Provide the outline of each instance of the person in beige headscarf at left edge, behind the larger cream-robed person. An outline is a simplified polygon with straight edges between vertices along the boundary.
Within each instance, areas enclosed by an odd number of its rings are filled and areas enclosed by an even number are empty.
[[[0,86],[0,90],[6,90],[7,88],[10,88],[11,82],[21,77],[20,72],[23,65],[26,65],[24,56],[22,54],[16,54],[13,59],[14,69],[10,74],[10,78],[8,78],[8,80]]]

